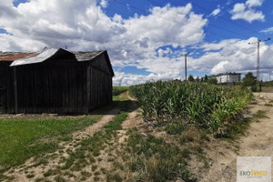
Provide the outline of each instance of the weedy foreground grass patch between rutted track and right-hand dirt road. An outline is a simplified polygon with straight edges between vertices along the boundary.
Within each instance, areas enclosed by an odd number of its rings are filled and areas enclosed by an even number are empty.
[[[142,136],[137,131],[129,134],[126,146],[131,155],[126,165],[139,181],[165,182],[182,178],[189,180],[188,150],[168,144],[163,138]]]

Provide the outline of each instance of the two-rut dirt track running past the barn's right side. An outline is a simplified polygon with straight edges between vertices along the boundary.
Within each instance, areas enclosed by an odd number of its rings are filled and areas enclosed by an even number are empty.
[[[35,181],[39,178],[46,178],[46,180],[50,181],[57,181],[55,175],[71,175],[73,174],[72,178],[67,178],[66,181],[97,181],[98,178],[100,178],[99,181],[106,181],[104,175],[102,175],[105,170],[110,170],[113,166],[113,158],[115,158],[115,161],[122,161],[121,156],[119,153],[121,144],[125,142],[126,139],[126,128],[131,128],[136,126],[139,122],[141,122],[141,116],[139,111],[139,106],[134,98],[129,96],[128,92],[123,93],[119,97],[123,97],[125,101],[121,101],[118,103],[117,106],[108,111],[106,115],[103,115],[101,119],[96,122],[96,124],[92,126],[87,126],[83,130],[78,130],[74,132],[69,141],[63,141],[58,144],[59,149],[56,152],[45,154],[44,157],[40,158],[30,158],[25,161],[24,165],[21,165],[19,167],[12,167],[11,169],[7,170],[5,172],[5,176],[7,177],[13,177],[11,180],[13,182],[27,182],[27,181]],[[108,124],[109,121],[111,121],[117,114],[119,114],[122,111],[126,111],[128,113],[128,116],[126,120],[123,123],[124,130],[119,130],[118,134],[114,139],[111,139],[109,141],[109,144],[106,145],[106,148],[100,151],[100,155],[97,157],[93,157],[93,164],[92,167],[84,167],[83,170],[86,171],[86,174],[95,174],[94,167],[101,168],[103,172],[97,172],[96,170],[96,178],[88,177],[89,179],[83,179],[83,174],[77,171],[70,171],[69,173],[61,172],[60,168],[61,166],[64,166],[64,159],[70,157],[71,152],[76,151],[76,148],[80,147],[80,142],[90,138],[90,136],[94,136],[97,132],[103,130],[103,127]],[[43,162],[45,161],[45,163]],[[45,174],[48,173],[47,171],[57,171],[57,174],[50,175],[45,177]],[[112,169],[111,169],[112,170]],[[68,169],[69,171],[69,169]],[[58,174],[60,173],[60,174]],[[62,174],[61,174],[62,173]],[[120,172],[121,173],[121,172]],[[122,172],[121,174],[124,174],[125,172]],[[125,175],[125,174],[124,174]],[[124,176],[123,175],[123,176]],[[32,177],[33,176],[33,177]],[[42,180],[43,181],[43,180]]]

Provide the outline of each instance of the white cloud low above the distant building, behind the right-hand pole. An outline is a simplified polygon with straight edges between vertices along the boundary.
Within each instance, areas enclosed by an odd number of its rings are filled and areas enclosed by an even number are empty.
[[[248,40],[240,40],[231,45],[225,46],[217,54],[215,59],[215,66],[212,67],[211,73],[225,73],[225,72],[241,72],[248,71],[255,72],[257,62],[257,47],[255,45],[248,45],[248,42],[255,42],[257,38],[250,38]],[[273,60],[270,57],[273,45],[260,44],[260,69],[261,72],[268,72],[273,68]],[[202,57],[201,57],[202,59]]]

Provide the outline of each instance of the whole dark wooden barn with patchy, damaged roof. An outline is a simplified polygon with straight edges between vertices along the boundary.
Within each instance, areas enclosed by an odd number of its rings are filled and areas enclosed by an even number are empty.
[[[106,51],[0,52],[0,112],[88,113],[112,101]]]

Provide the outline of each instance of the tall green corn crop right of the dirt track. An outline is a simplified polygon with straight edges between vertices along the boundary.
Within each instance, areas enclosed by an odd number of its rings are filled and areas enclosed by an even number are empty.
[[[145,120],[182,122],[217,131],[228,118],[248,105],[248,90],[206,83],[157,81],[130,86],[141,103]]]

